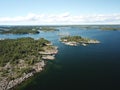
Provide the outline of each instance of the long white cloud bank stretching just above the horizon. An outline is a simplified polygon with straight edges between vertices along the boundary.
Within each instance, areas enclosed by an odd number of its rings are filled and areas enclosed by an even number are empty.
[[[71,15],[34,14],[16,17],[0,17],[0,24],[120,24],[120,14]]]

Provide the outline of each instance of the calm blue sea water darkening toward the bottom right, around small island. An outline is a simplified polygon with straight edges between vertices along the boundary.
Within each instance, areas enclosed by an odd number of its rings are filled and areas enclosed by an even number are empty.
[[[59,42],[59,33],[98,39],[100,44],[71,47]],[[54,61],[16,90],[119,90],[120,31],[61,28],[59,32],[0,35],[0,38],[44,37],[59,47]]]

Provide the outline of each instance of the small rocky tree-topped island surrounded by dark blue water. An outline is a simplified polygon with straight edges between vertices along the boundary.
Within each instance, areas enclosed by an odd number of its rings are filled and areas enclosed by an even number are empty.
[[[65,36],[60,38],[60,41],[65,45],[69,45],[69,46],[78,46],[78,45],[86,46],[88,44],[100,43],[100,41],[98,40],[83,38],[81,36]]]

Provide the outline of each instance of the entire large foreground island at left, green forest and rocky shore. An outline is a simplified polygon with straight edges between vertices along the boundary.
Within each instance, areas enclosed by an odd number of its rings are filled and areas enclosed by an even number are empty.
[[[0,40],[0,90],[9,90],[41,72],[45,61],[55,59],[57,52],[58,48],[44,38]]]

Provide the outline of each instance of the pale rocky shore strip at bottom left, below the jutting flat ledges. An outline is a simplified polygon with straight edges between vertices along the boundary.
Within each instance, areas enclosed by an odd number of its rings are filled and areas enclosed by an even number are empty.
[[[35,73],[41,72],[43,70],[44,66],[45,66],[45,62],[44,62],[44,60],[42,60],[41,62],[36,63],[33,66],[34,71],[31,71],[27,74],[24,73],[21,77],[13,79],[13,80],[9,80],[7,77],[4,78],[2,81],[0,81],[0,90],[9,90],[9,89],[15,87],[16,85],[25,81],[27,78],[33,76]]]

